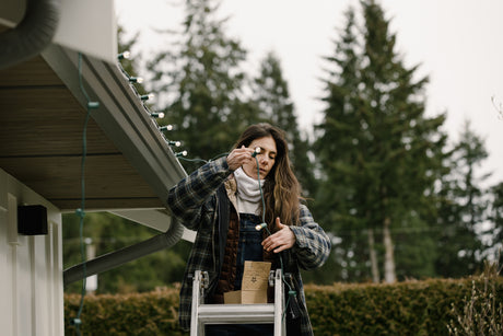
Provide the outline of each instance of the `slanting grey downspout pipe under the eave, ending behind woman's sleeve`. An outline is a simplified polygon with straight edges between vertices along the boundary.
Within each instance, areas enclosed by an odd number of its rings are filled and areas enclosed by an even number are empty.
[[[90,277],[151,253],[172,247],[182,239],[184,227],[177,221],[172,221],[169,229],[164,233],[157,234],[144,242],[104,254],[86,263],[67,268],[63,271],[63,285],[67,286],[71,282],[82,280],[84,277],[84,265],[85,277]]]

